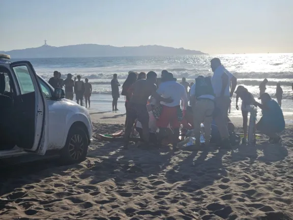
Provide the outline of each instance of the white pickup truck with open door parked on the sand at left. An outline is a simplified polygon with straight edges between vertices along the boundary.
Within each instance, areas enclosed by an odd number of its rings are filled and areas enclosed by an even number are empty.
[[[0,158],[59,150],[64,160],[82,161],[93,132],[87,109],[54,90],[30,62],[9,59],[0,54]]]

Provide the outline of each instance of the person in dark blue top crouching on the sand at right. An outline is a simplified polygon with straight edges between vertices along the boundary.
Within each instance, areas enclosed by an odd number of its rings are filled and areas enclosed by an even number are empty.
[[[260,107],[262,117],[256,124],[256,129],[270,137],[271,144],[281,142],[281,137],[277,134],[285,129],[285,120],[280,105],[271,98],[268,93],[263,93],[258,98],[261,103],[255,101],[253,104]]]

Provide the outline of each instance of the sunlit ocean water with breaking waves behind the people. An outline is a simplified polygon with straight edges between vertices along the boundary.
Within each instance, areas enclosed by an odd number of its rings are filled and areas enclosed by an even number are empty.
[[[225,54],[225,55],[189,55],[189,56],[153,56],[153,57],[103,57],[103,58],[46,58],[27,59],[36,72],[45,79],[57,70],[66,78],[67,73],[89,78],[93,85],[93,104],[100,103],[101,111],[111,105],[110,80],[113,73],[118,74],[123,84],[128,71],[155,71],[160,76],[163,69],[172,72],[181,81],[194,82],[198,75],[212,75],[210,60],[218,57],[222,64],[238,78],[238,85],[245,86],[254,97],[258,97],[258,86],[264,78],[268,78],[267,92],[274,96],[277,82],[283,89],[283,107],[287,110],[292,106],[293,53],[264,54]],[[18,59],[12,59],[17,61]],[[124,97],[119,99],[121,103]],[[119,103],[119,104],[121,104]],[[96,104],[95,104],[96,106]],[[104,106],[104,107],[102,107]],[[107,107],[106,107],[107,106]],[[232,103],[232,106],[233,103]],[[94,106],[93,106],[94,107]],[[111,108],[111,107],[110,107]],[[124,108],[124,107],[121,107]]]

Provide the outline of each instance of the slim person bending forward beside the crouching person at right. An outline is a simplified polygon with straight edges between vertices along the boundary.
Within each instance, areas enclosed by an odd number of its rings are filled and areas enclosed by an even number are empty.
[[[236,109],[239,110],[238,107],[238,99],[239,97],[242,100],[241,111],[243,117],[243,133],[244,137],[242,139],[242,144],[246,144],[246,135],[247,135],[247,121],[248,121],[248,113],[250,112],[251,105],[255,102],[253,95],[248,92],[248,90],[244,86],[239,86],[236,93]]]

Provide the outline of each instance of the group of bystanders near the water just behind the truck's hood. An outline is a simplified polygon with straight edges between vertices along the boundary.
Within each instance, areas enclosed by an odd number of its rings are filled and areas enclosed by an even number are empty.
[[[49,84],[54,88],[65,88],[65,98],[73,100],[75,93],[76,102],[83,106],[83,97],[85,100],[85,107],[89,103],[91,107],[91,95],[92,95],[92,84],[89,82],[88,78],[85,78],[83,82],[81,76],[77,75],[74,80],[72,79],[73,75],[71,73],[67,74],[66,79],[61,78],[61,73],[58,71],[53,72],[53,77],[49,79]]]

